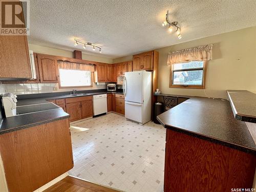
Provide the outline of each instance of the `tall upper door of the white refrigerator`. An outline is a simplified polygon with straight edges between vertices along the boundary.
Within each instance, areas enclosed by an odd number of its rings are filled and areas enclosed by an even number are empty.
[[[133,71],[124,74],[124,100],[142,103],[143,72]]]

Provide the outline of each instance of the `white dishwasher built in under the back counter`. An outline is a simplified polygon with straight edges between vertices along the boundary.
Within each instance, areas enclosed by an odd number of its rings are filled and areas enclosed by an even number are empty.
[[[106,94],[93,96],[93,115],[100,115],[108,112]]]

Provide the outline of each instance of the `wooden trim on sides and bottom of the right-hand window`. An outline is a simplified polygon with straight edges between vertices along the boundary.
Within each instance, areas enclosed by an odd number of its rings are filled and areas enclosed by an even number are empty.
[[[203,84],[202,86],[197,85],[188,85],[188,86],[182,86],[182,85],[176,85],[172,84],[173,80],[173,65],[170,66],[170,79],[169,79],[169,88],[185,88],[185,89],[205,89],[205,82],[206,82],[206,73],[207,73],[207,61],[204,61],[204,67],[203,67]]]

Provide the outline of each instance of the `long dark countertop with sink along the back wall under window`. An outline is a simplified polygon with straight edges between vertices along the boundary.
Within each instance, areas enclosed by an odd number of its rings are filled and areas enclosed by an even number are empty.
[[[107,93],[115,93],[115,94],[123,94],[123,92],[118,91],[99,91],[93,93],[86,93],[86,95],[75,95],[75,96],[67,96],[67,95],[58,95],[58,96],[45,96],[45,97],[36,97],[36,98],[26,98],[26,99],[18,99],[17,106],[28,105],[28,104],[37,104],[37,103],[45,103],[48,102],[47,100],[50,99],[65,99],[65,98],[72,98],[72,97],[85,97],[89,95],[100,95],[100,94],[107,94]]]

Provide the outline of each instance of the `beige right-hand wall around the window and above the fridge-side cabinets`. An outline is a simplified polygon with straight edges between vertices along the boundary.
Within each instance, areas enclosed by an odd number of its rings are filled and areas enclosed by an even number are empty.
[[[169,88],[168,52],[200,45],[214,44],[212,60],[208,62],[206,89]],[[205,37],[158,49],[159,80],[162,93],[226,98],[226,90],[248,90],[256,93],[256,27]],[[113,62],[131,60],[132,56]]]

